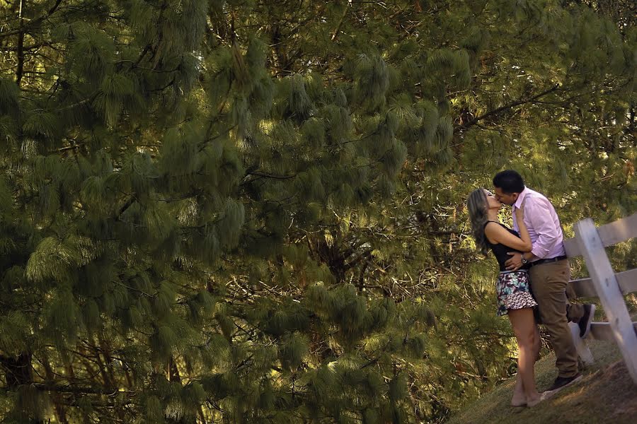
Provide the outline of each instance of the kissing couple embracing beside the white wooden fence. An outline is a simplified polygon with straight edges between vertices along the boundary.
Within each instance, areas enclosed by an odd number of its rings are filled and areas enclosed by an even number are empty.
[[[503,204],[512,207],[513,228],[500,223]],[[476,246],[498,260],[498,315],[509,317],[517,339],[517,381],[511,405],[536,406],[582,377],[568,323],[577,323],[580,337],[585,338],[595,305],[568,301],[570,266],[560,220],[551,201],[526,187],[518,172],[498,172],[493,192],[474,190],[467,208]],[[558,369],[555,382],[543,392],[537,391],[534,374],[541,346],[538,324],[550,336]]]

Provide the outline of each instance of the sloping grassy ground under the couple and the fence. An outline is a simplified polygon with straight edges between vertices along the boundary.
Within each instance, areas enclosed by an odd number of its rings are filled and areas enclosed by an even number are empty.
[[[637,423],[637,384],[633,383],[614,344],[589,341],[595,364],[584,378],[534,408],[509,406],[515,379],[467,405],[447,424],[522,423]],[[551,385],[557,375],[553,354],[535,367],[538,390]]]

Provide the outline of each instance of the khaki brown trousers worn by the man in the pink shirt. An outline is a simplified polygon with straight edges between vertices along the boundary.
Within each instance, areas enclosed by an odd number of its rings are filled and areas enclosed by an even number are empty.
[[[575,351],[568,322],[578,322],[584,314],[583,305],[568,302],[572,289],[568,287],[568,260],[532,266],[531,293],[537,302],[541,324],[551,336],[555,351],[555,366],[559,377],[573,377],[578,373],[578,353]],[[567,293],[568,292],[568,293]]]

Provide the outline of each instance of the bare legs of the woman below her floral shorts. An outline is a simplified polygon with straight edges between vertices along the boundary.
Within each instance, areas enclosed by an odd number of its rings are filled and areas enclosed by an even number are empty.
[[[536,324],[533,311],[529,307],[509,310],[508,316],[517,338],[517,346],[520,349],[517,358],[517,373],[522,380],[524,396],[527,399],[527,404],[535,404],[539,399],[539,393],[535,387],[533,369],[536,358]]]

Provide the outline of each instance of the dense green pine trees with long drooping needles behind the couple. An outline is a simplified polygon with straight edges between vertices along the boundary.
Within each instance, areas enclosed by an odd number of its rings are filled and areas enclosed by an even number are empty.
[[[442,420],[512,365],[466,193],[636,210],[630,2],[0,4],[3,423]]]

